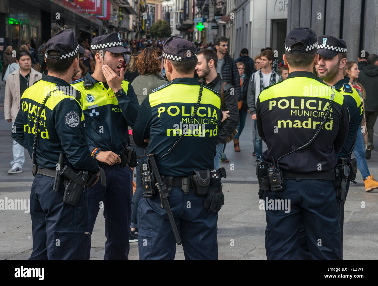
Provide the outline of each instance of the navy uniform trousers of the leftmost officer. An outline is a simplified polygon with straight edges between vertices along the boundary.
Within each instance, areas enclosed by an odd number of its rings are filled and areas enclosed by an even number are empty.
[[[29,260],[84,260],[89,242],[87,190],[76,206],[63,202],[64,186],[36,174],[30,194],[33,252]]]

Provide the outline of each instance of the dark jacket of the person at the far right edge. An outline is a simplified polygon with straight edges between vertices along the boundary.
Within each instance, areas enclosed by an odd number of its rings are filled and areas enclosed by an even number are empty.
[[[365,111],[378,111],[378,66],[364,66],[358,81],[366,90]]]

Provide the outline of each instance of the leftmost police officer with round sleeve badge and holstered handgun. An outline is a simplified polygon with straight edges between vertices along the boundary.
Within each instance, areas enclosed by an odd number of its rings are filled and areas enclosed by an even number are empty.
[[[63,165],[73,171],[98,170],[88,151],[80,92],[68,84],[77,73],[79,52],[84,52],[84,48],[77,43],[73,30],[59,31],[48,40],[45,47],[48,74],[43,74],[41,80],[23,93],[14,123],[12,138],[28,149],[34,164],[30,260],[85,259],[89,240],[87,191],[82,192],[81,187],[79,201],[72,205],[63,202],[67,179],[61,180],[58,188],[54,186],[56,174],[62,169],[62,162],[58,164],[60,153],[65,154]]]

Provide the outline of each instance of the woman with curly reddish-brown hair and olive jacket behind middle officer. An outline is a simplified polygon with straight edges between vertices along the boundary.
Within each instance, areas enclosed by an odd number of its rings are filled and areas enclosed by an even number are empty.
[[[161,75],[164,67],[163,58],[156,60],[156,58],[161,56],[162,54],[163,52],[161,51],[161,49],[149,47],[141,51],[136,58],[136,66],[140,75],[138,75],[138,77],[133,80],[131,85],[133,86],[136,97],[138,97],[139,105],[141,105],[143,100],[150,93],[152,93],[153,89],[167,83],[167,81],[164,80],[163,75]],[[136,213],[139,200],[141,199],[143,194],[143,188],[140,180],[140,168],[143,165],[147,148],[140,148],[136,146],[131,141],[131,138],[132,136],[130,136],[130,144],[135,148],[136,156],[138,158],[138,166],[136,166],[136,189],[131,204],[131,233],[129,241],[136,242],[138,241]]]

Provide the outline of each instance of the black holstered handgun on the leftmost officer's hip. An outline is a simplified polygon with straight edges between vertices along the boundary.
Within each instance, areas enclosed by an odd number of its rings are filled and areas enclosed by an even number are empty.
[[[67,178],[68,182],[65,186],[63,202],[70,205],[77,205],[79,198],[84,191],[84,186],[93,186],[99,176],[100,171],[88,174],[88,170],[74,171],[67,165],[64,166],[60,175]]]

